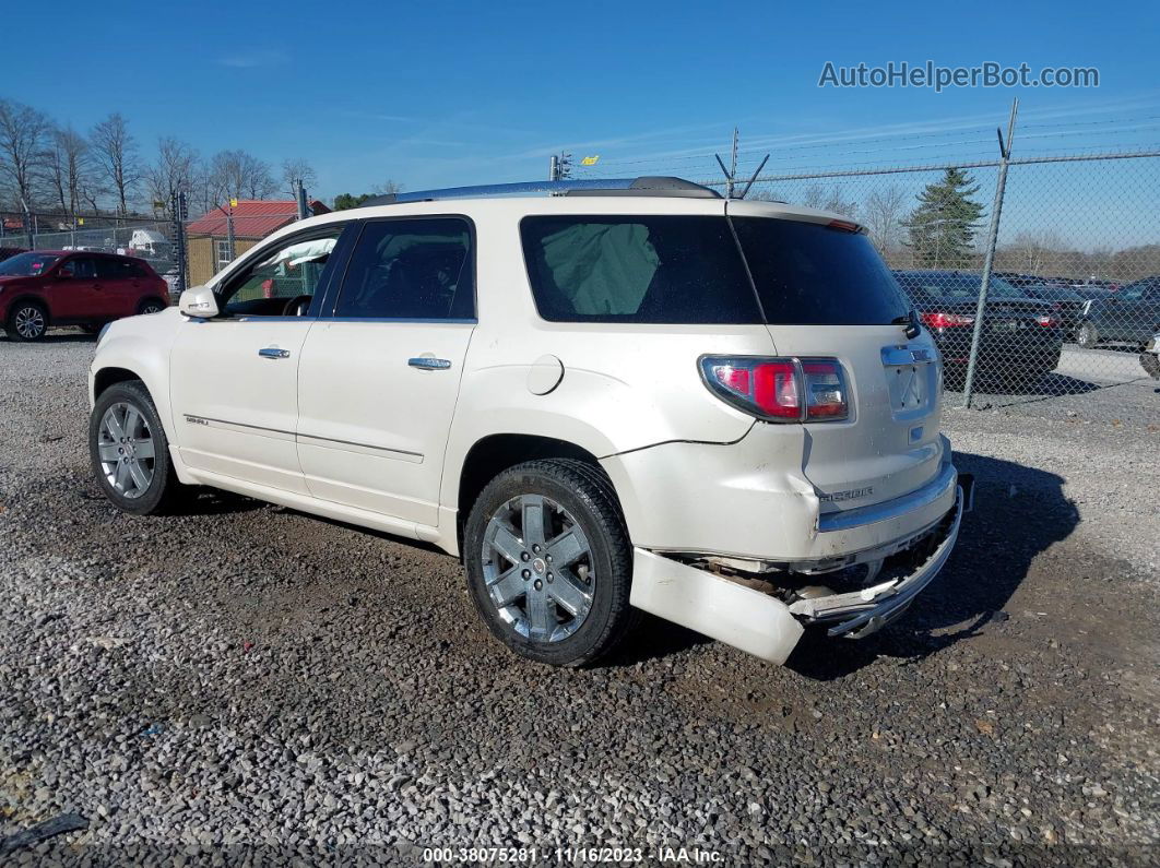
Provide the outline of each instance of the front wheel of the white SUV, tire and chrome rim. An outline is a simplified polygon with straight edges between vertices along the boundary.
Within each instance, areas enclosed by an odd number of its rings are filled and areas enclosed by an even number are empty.
[[[108,422],[110,415],[116,425]],[[139,380],[117,382],[96,399],[88,448],[97,488],[117,509],[155,516],[180,502],[184,486],[173,468],[153,399]]]

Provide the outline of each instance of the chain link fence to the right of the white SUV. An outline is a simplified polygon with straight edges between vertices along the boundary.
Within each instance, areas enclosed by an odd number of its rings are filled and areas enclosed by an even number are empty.
[[[1082,394],[1154,375],[1160,153],[1010,160],[996,197],[1000,174],[1000,161],[977,161],[762,175],[746,198],[864,227],[938,344],[945,388],[966,392],[964,402],[972,392]]]

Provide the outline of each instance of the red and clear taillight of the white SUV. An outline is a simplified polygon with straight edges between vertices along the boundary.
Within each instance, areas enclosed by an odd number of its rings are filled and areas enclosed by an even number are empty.
[[[832,358],[704,356],[710,392],[769,422],[826,422],[849,416],[846,374]]]

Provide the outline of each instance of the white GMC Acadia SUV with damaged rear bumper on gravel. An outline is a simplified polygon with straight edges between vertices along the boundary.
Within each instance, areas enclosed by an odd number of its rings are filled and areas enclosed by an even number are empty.
[[[971,484],[941,377],[835,214],[677,178],[464,188],[303,220],[113,323],[89,439],[129,512],[211,486],[433,542],[532,659],[592,661],[637,608],[782,663],[947,561]]]

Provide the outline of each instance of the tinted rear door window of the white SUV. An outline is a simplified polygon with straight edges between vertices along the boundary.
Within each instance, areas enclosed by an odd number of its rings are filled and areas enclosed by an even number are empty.
[[[334,315],[474,316],[471,227],[458,217],[371,220],[350,255]]]

